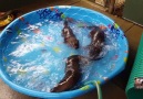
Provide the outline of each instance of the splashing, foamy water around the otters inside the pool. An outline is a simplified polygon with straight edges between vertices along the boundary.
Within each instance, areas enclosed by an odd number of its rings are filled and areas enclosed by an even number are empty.
[[[64,76],[65,59],[71,55],[88,55],[86,45],[90,44],[91,29],[78,26],[82,21],[69,23],[80,48],[73,50],[63,43],[61,30],[63,21],[38,22],[21,29],[3,50],[3,66],[10,79],[29,89],[49,92]],[[90,23],[85,23],[92,25]],[[80,84],[88,80],[105,80],[118,62],[120,45],[110,30],[105,31],[105,46],[103,58],[81,66],[83,77]],[[112,61],[111,61],[112,59]],[[91,70],[92,69],[92,70]],[[93,70],[94,69],[94,70]]]

